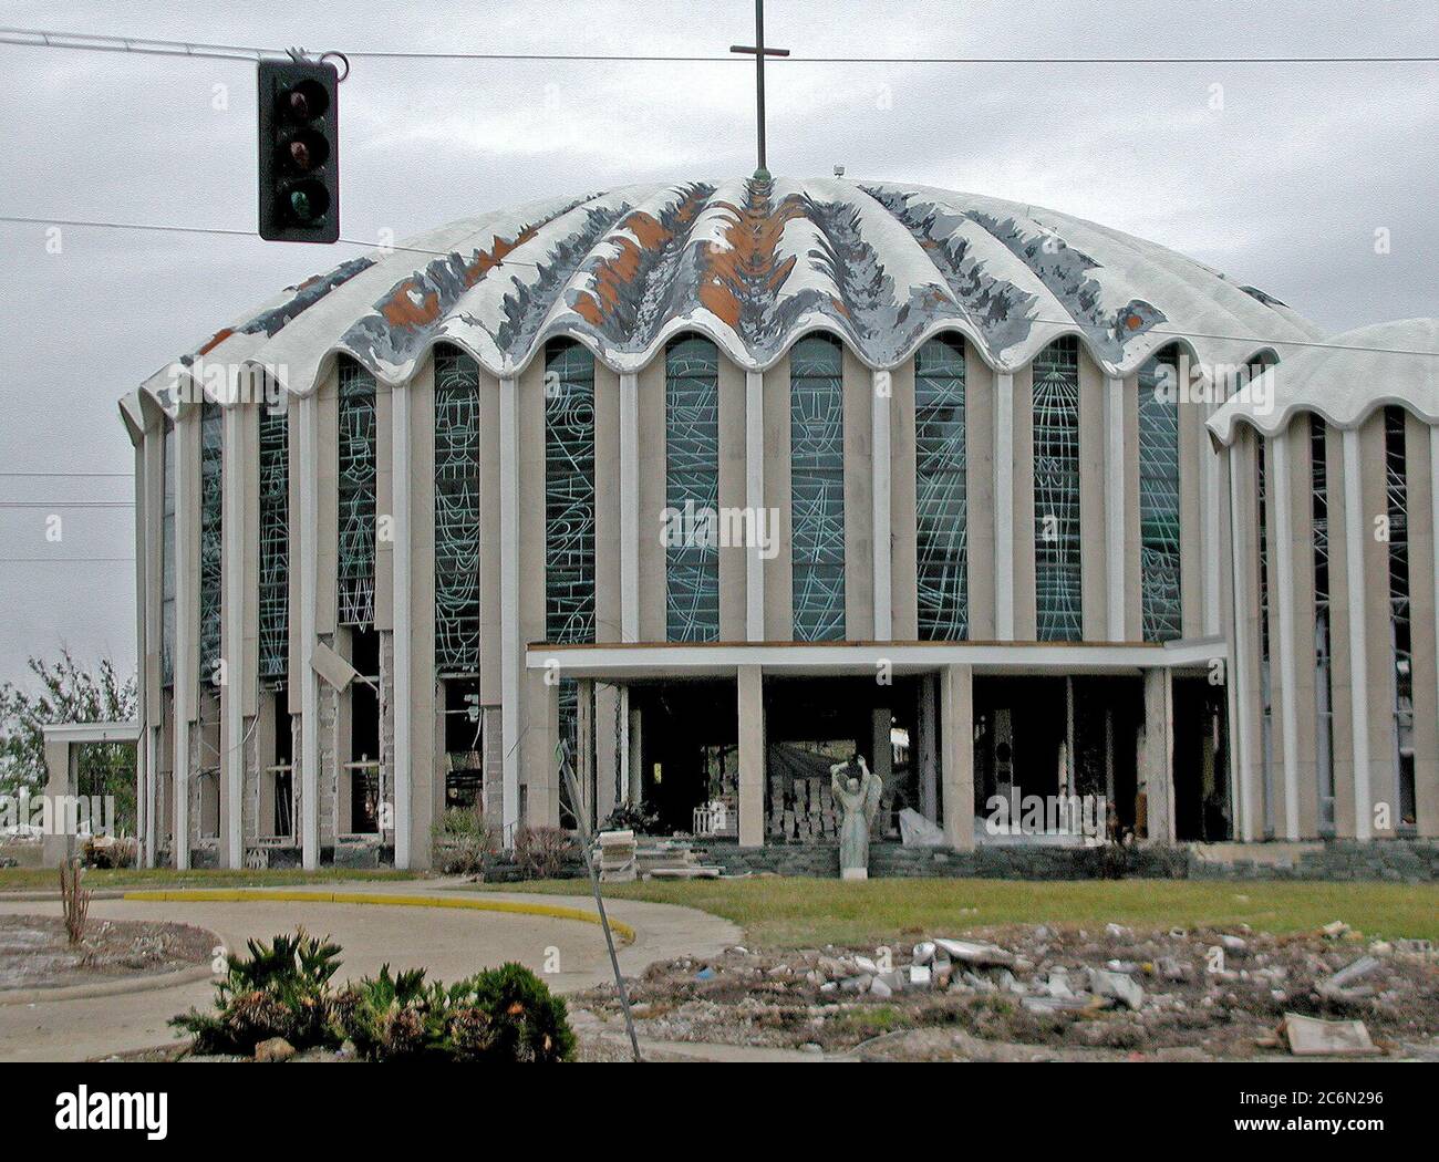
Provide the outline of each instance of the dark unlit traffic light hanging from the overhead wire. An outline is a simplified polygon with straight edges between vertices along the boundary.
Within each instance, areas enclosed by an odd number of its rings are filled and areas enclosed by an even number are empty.
[[[260,237],[340,239],[340,79],[322,60],[259,62]]]

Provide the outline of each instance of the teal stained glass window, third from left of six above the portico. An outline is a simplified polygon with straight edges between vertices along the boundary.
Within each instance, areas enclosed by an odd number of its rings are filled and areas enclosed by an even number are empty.
[[[845,394],[839,344],[790,351],[790,509],[794,639],[845,637]]]

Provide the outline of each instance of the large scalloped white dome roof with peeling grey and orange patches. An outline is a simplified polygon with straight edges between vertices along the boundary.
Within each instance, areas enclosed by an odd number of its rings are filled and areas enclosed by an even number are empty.
[[[387,383],[436,342],[512,375],[571,335],[616,371],[681,331],[763,370],[804,332],[873,368],[937,331],[993,367],[1073,334],[1107,374],[1176,338],[1243,362],[1317,337],[1284,303],[1181,255],[1035,206],[843,178],[643,186],[496,210],[289,288],[147,384],[197,360],[271,368],[305,394],[340,352]]]

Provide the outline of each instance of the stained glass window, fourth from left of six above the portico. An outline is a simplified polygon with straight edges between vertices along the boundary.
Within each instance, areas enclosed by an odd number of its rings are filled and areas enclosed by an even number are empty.
[[[940,335],[914,365],[915,578],[920,639],[960,641],[966,585],[964,339]]]

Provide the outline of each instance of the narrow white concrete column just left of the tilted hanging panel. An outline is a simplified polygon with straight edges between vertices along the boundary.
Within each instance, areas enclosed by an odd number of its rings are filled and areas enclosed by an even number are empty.
[[[319,395],[299,400],[299,837],[307,872],[319,867],[319,676],[309,664],[319,601]],[[294,558],[292,558],[294,559]]]

